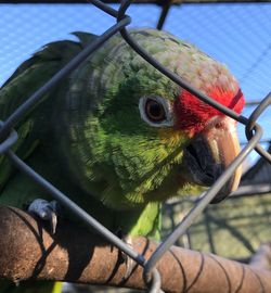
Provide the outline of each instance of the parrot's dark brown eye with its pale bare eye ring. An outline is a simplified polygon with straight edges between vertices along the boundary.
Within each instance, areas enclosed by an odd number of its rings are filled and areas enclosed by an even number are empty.
[[[139,110],[141,118],[151,126],[172,126],[170,103],[162,97],[142,97]]]

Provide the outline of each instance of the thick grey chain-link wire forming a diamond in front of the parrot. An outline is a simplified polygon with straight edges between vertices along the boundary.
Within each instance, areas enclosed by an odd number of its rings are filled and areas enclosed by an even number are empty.
[[[121,1],[119,9],[113,9],[109,5],[104,4],[99,0],[92,0],[92,4],[98,7],[103,11],[104,14],[109,14],[116,20],[116,24],[112,25],[107,30],[105,30],[95,41],[92,41],[87,46],[87,48],[81,51],[77,56],[75,56],[67,65],[65,65],[59,73],[56,73],[46,85],[39,88],[31,97],[29,97],[26,102],[18,106],[4,122],[1,122],[0,129],[0,154],[4,154],[9,160],[24,174],[30,177],[40,187],[47,190],[53,198],[55,198],[60,203],[66,206],[72,213],[77,215],[78,218],[83,220],[88,226],[96,230],[105,239],[107,239],[115,246],[120,249],[131,258],[133,258],[139,265],[144,267],[144,279],[149,285],[150,292],[160,291],[160,277],[159,272],[156,270],[155,265],[160,259],[160,257],[169,250],[169,247],[191,227],[195,218],[201,215],[206,206],[211,202],[211,200],[217,195],[220,189],[225,184],[229,178],[232,176],[234,170],[242,164],[242,162],[248,156],[248,154],[256,150],[262,157],[264,157],[269,163],[271,163],[271,155],[264,151],[258,142],[262,136],[262,129],[257,124],[257,120],[264,110],[271,103],[271,94],[268,94],[262,102],[255,109],[249,117],[237,115],[234,111],[221,105],[208,95],[193,88],[191,85],[185,82],[175,73],[170,72],[162,64],[159,64],[153,56],[151,56],[143,48],[141,48],[137,41],[129,35],[127,26],[131,23],[130,16],[128,16],[127,10],[131,4],[130,0]],[[28,112],[35,104],[38,103],[40,99],[57,82],[60,82],[65,76],[67,76],[72,71],[79,66],[89,55],[95,52],[102,43],[108,40],[116,33],[120,33],[122,38],[145,61],[152,64],[160,73],[166,75],[172,81],[175,81],[180,87],[186,89],[192,94],[197,97],[205,103],[216,107],[225,115],[232,117],[233,119],[240,122],[245,126],[245,132],[247,137],[247,144],[236,156],[236,158],[231,163],[227,170],[217,179],[212,187],[197,201],[193,207],[189,211],[185,217],[177,225],[175,230],[159,244],[157,250],[153,253],[150,259],[144,259],[143,255],[134,252],[129,245],[119,240],[114,233],[107,230],[104,226],[98,222],[91,215],[85,212],[81,207],[70,201],[64,193],[53,187],[34,169],[31,169],[25,162],[23,162],[12,150],[11,146],[16,142],[17,136],[14,128],[20,119],[23,118],[24,114]]]

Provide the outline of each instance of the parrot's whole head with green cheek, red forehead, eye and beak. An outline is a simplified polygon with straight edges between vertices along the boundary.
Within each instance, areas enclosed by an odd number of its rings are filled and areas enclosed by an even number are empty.
[[[224,65],[168,33],[130,34],[160,64],[241,113],[244,97]],[[210,187],[237,155],[236,122],[164,76],[120,36],[89,63],[96,84],[94,91],[89,87],[96,101],[87,124],[95,129],[88,135],[94,157],[89,174],[108,206],[165,201],[191,187]],[[238,168],[214,202],[234,191],[240,178]]]

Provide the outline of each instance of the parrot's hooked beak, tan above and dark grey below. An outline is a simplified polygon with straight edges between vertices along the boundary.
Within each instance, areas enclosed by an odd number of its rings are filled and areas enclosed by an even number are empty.
[[[216,116],[186,148],[183,160],[194,183],[209,187],[240,153],[236,122]],[[237,189],[242,175],[238,167],[211,203],[218,203]]]

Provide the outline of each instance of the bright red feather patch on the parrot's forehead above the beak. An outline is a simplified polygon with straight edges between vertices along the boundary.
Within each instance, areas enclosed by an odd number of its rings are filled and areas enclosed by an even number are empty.
[[[245,103],[241,89],[237,93],[233,93],[216,88],[208,95],[238,114]],[[182,90],[180,97],[176,99],[173,109],[177,117],[176,127],[191,135],[203,130],[210,118],[218,115],[224,116],[223,113],[202,102],[186,90]]]

